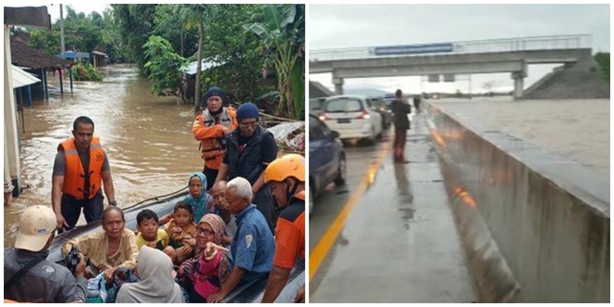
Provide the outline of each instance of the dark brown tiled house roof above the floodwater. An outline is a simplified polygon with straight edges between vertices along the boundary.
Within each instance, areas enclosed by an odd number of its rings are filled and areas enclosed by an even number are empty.
[[[48,55],[14,39],[10,40],[10,56],[12,64],[33,69],[66,68],[72,66],[71,61]]]

